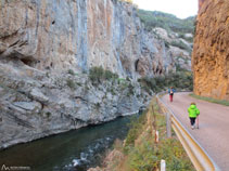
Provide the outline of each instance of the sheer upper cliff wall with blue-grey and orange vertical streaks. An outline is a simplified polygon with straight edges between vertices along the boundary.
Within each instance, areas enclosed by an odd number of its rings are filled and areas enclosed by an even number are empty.
[[[123,77],[165,73],[173,58],[118,0],[0,1],[0,53],[40,70],[103,66]],[[142,65],[143,64],[143,65]]]

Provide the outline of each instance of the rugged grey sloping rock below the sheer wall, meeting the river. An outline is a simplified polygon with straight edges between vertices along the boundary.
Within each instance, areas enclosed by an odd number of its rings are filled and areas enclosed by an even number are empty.
[[[150,101],[125,79],[96,83],[86,74],[0,66],[1,148],[131,115]]]

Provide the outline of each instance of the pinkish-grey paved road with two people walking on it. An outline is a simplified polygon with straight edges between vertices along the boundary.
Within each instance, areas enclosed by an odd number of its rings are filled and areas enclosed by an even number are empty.
[[[173,103],[168,101],[168,95],[164,95],[162,100],[218,167],[222,171],[229,171],[229,107],[193,98],[189,93],[175,93]],[[195,102],[201,111],[199,130],[190,127],[188,107],[191,102]]]

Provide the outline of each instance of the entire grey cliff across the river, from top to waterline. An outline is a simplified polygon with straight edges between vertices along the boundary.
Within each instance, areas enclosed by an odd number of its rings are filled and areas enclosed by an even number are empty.
[[[189,58],[157,30],[117,0],[0,0],[0,148],[137,113],[150,96],[135,80]],[[132,81],[94,86],[93,66]]]

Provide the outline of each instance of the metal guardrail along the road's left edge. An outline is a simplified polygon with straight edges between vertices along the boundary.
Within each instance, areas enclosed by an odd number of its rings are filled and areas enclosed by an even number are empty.
[[[185,150],[191,159],[193,166],[198,171],[220,171],[219,167],[207,155],[205,149],[198,143],[198,141],[189,133],[183,124],[178,120],[175,114],[168,108],[168,106],[160,98],[162,92],[156,95],[158,105],[164,114],[170,115],[171,128],[181,142]]]

